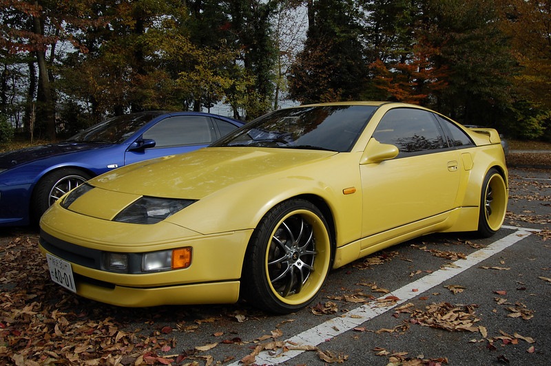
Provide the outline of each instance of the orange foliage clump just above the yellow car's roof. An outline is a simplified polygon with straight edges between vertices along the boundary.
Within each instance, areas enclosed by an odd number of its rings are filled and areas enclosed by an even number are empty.
[[[437,54],[435,47],[417,47],[408,60],[384,63],[377,59],[371,64],[373,83],[386,92],[388,98],[399,102],[421,105],[448,83],[448,69],[437,67],[430,55]]]

